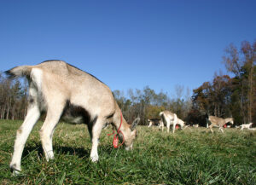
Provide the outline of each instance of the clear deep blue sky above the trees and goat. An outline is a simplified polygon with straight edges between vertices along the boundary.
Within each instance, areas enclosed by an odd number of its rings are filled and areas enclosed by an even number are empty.
[[[0,71],[67,61],[111,90],[175,94],[222,70],[224,49],[256,39],[256,1],[0,1]]]

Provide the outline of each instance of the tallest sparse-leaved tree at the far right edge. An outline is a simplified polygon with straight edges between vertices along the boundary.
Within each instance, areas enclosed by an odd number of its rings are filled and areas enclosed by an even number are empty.
[[[226,55],[223,62],[228,72],[235,77],[233,90],[236,100],[239,102],[243,124],[253,121],[253,102],[255,101],[255,62],[256,62],[256,41],[251,44],[247,41],[241,43],[241,49],[230,44],[225,49]]]

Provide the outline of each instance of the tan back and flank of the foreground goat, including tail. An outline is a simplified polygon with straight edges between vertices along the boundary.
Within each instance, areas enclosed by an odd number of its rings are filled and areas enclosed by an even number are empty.
[[[103,115],[114,113],[117,108],[112,91],[106,84],[65,61],[44,61],[35,66],[17,66],[7,73],[29,78],[29,81],[38,86],[39,94],[43,95],[46,105],[50,101],[61,99],[83,107],[89,113]]]

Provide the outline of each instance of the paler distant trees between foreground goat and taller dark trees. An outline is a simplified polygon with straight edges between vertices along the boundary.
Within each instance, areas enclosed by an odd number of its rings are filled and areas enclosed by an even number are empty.
[[[192,106],[189,90],[184,90],[182,85],[176,85],[176,95],[171,98],[164,92],[156,93],[148,86],[143,90],[128,90],[127,95],[119,90],[114,90],[113,95],[121,108],[125,119],[129,123],[136,117],[141,118],[141,124],[148,124],[147,119],[159,118],[163,110],[177,113],[177,117],[185,119]]]

